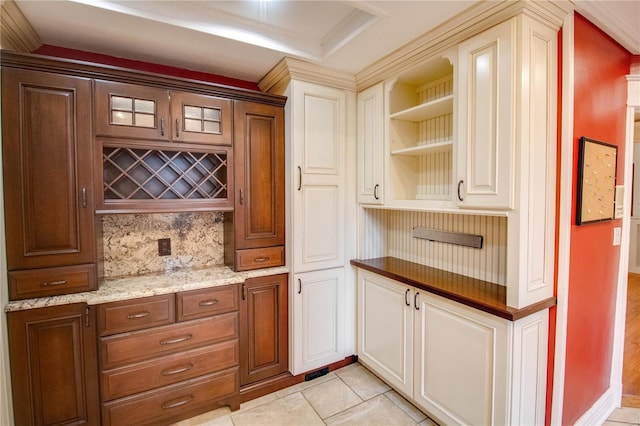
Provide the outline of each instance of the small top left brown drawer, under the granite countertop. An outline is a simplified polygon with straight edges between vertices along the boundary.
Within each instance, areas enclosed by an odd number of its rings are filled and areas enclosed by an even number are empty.
[[[105,303],[98,305],[98,335],[171,324],[174,319],[173,294]]]

